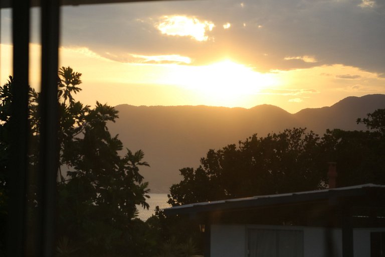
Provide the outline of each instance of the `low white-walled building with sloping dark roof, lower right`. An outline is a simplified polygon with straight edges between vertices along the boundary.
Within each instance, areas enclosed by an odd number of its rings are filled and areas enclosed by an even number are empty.
[[[385,254],[385,186],[365,184],[164,209],[205,229],[205,257]]]

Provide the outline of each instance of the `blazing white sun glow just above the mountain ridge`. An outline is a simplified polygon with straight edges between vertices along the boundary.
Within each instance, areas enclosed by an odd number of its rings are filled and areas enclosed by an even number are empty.
[[[226,59],[204,66],[184,66],[168,81],[195,91],[210,105],[241,106],[245,99],[278,83],[276,74],[260,73]]]

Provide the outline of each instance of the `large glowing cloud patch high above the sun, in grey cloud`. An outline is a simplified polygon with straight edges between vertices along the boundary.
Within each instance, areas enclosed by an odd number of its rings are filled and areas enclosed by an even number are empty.
[[[209,37],[206,32],[212,31],[215,27],[210,21],[200,21],[195,17],[187,16],[163,16],[161,22],[155,27],[168,36],[190,37],[197,41],[207,41]]]

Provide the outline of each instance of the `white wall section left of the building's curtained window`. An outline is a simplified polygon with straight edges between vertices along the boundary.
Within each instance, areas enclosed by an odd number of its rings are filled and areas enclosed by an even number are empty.
[[[211,225],[211,257],[245,257],[245,225]]]

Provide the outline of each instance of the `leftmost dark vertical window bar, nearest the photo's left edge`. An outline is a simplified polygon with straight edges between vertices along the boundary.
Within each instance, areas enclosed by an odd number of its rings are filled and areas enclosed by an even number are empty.
[[[28,151],[28,72],[30,2],[12,2],[14,84],[10,144],[9,256],[22,256],[26,245]]]

